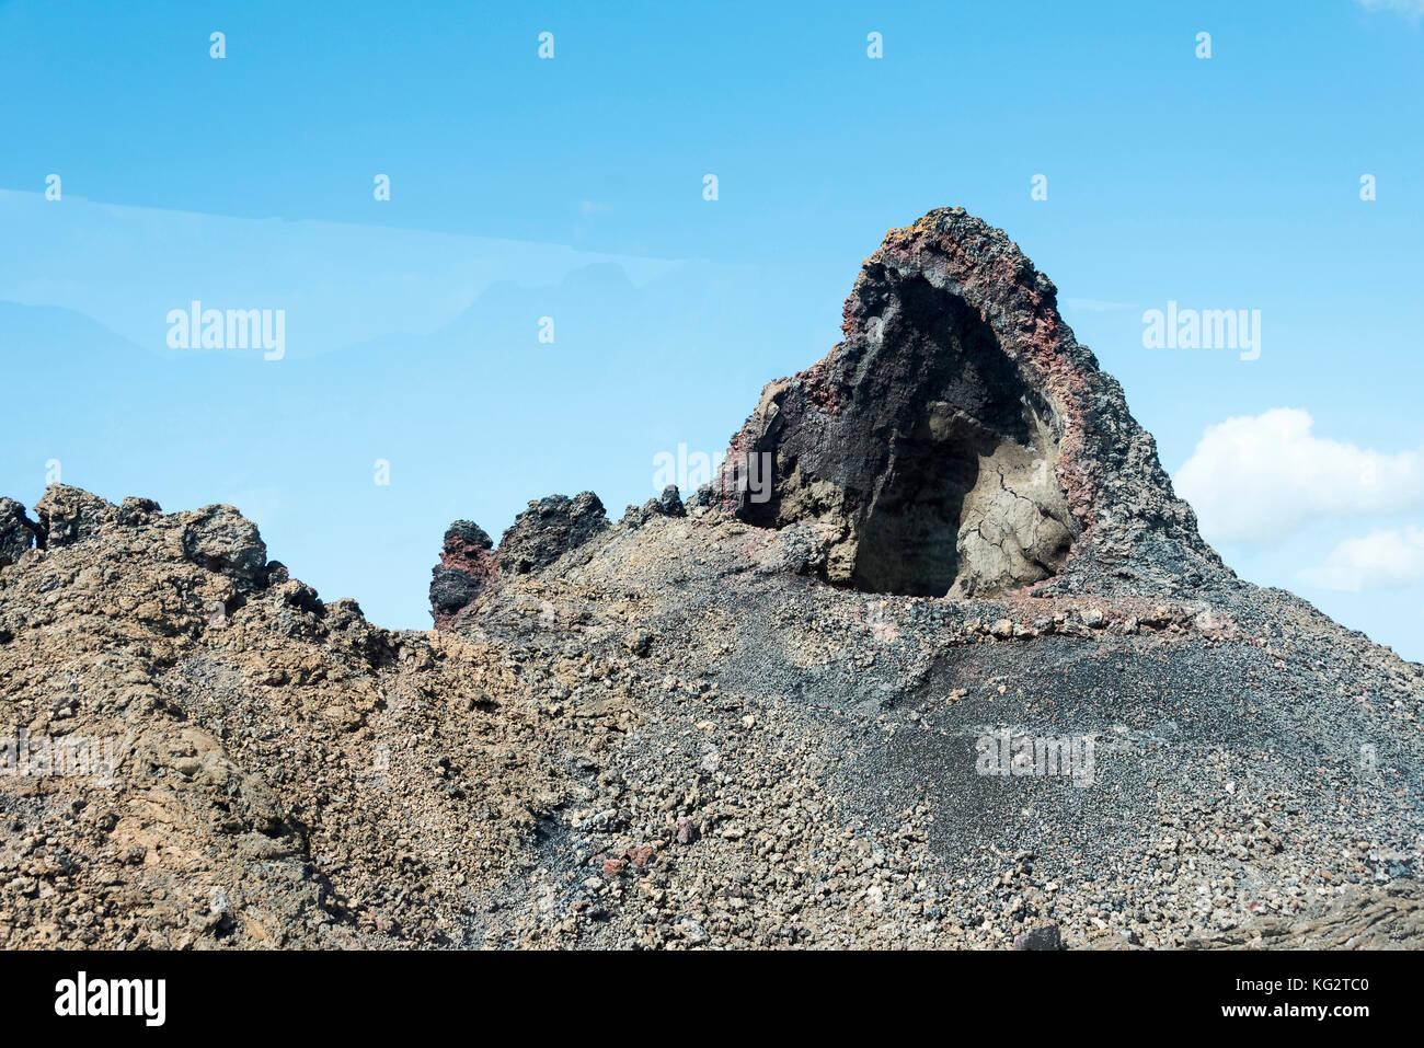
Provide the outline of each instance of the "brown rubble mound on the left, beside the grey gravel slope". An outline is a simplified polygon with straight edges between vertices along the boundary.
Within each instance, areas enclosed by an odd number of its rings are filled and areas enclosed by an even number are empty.
[[[543,671],[255,570],[231,507],[37,514],[0,568],[0,947],[483,941],[558,796]]]

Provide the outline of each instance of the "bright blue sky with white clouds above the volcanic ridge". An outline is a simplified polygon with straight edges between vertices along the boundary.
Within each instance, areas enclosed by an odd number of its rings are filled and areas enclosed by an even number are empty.
[[[424,628],[450,520],[641,503],[824,355],[886,229],[961,204],[1243,577],[1424,658],[1421,9],[0,3],[0,491],[57,460],[229,501]],[[171,349],[192,299],[282,309],[283,359]],[[1260,310],[1260,357],[1145,347],[1169,300]]]

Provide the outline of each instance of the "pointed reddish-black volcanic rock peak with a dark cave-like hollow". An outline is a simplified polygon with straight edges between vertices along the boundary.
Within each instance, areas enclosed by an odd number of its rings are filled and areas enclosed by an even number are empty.
[[[844,340],[770,383],[729,466],[770,454],[772,497],[723,473],[762,527],[832,534],[823,574],[870,592],[1175,591],[1222,578],[1122,389],[1074,339],[1057,290],[963,208],[886,235]]]

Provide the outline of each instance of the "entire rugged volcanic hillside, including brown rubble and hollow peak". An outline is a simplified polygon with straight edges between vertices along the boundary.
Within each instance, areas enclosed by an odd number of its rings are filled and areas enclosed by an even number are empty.
[[[1220,565],[1002,234],[891,231],[732,450],[457,521],[430,632],[0,503],[0,735],[115,753],[0,752],[0,945],[1424,944],[1424,668]]]

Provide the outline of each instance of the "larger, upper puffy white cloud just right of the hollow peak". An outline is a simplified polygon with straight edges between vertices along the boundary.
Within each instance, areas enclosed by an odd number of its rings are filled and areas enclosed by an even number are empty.
[[[1209,543],[1270,543],[1313,517],[1424,503],[1424,450],[1384,454],[1317,437],[1299,407],[1208,426],[1173,483]]]

